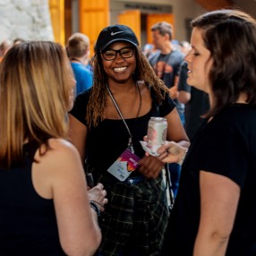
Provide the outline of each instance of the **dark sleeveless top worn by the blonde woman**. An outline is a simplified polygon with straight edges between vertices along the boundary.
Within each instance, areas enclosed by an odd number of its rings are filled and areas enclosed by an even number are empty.
[[[24,145],[23,166],[0,168],[0,254],[65,255],[53,200],[41,198],[31,179],[33,143]]]

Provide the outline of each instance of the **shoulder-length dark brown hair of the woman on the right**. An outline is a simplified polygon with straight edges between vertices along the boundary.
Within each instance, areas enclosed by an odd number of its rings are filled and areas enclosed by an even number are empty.
[[[216,115],[234,104],[241,92],[256,105],[256,21],[238,10],[205,13],[192,21],[203,30],[202,38],[213,61],[209,81],[214,104],[208,115]]]

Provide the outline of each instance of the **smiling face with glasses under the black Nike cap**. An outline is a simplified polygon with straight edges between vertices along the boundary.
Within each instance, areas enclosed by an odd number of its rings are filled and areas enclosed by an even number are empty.
[[[127,51],[131,51],[132,44],[125,41],[117,41],[107,47],[107,49],[112,49],[115,51],[122,49],[122,55],[126,56],[126,47]],[[103,53],[107,55],[106,50],[104,50]],[[107,73],[108,83],[111,81],[123,83],[132,79],[132,73],[135,71],[136,68],[135,52],[131,57],[122,57],[119,52],[116,54],[116,57],[113,60],[106,60],[103,55],[101,55],[101,59],[104,71],[105,73]]]

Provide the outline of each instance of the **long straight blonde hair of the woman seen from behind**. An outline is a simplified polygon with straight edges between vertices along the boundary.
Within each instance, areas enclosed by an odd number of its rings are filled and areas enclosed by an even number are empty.
[[[54,42],[12,47],[0,66],[0,166],[21,163],[25,139],[66,138],[73,72]]]

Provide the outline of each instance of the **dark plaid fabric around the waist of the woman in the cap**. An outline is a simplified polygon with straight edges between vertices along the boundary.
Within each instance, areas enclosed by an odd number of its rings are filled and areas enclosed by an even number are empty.
[[[168,219],[162,177],[129,184],[107,183],[101,176],[98,182],[109,202],[99,221],[103,239],[97,255],[158,255]]]

